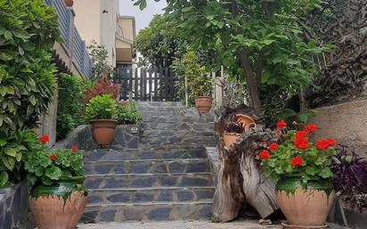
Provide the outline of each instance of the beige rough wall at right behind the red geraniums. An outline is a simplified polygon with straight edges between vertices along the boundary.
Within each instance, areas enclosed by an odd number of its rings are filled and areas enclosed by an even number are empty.
[[[338,143],[355,147],[367,159],[367,100],[345,102],[316,109],[309,123],[320,128],[315,137],[333,137]]]

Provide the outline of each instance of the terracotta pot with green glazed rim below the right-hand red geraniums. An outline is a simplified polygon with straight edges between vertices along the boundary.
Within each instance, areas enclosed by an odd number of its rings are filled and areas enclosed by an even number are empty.
[[[276,186],[278,206],[287,218],[284,228],[323,228],[334,200],[330,180],[308,182],[303,189],[300,176],[281,178]]]

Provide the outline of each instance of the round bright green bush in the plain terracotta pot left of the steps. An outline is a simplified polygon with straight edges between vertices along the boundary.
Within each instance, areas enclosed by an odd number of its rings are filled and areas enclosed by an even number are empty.
[[[98,95],[86,104],[86,120],[114,119],[116,104],[110,94]]]

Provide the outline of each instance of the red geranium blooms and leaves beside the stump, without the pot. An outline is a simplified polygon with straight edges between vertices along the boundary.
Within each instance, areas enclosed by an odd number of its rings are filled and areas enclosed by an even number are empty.
[[[310,135],[316,131],[314,124],[306,125],[301,130],[288,128],[281,120],[277,123],[275,135],[279,135],[278,143],[263,144],[257,158],[261,160],[266,176],[274,182],[282,176],[299,176],[304,187],[308,181],[330,179],[330,165],[336,155],[334,139],[322,139],[310,142]]]

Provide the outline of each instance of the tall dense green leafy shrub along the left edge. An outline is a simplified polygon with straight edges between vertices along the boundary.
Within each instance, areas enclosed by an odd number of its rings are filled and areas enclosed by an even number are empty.
[[[27,128],[37,125],[55,90],[51,50],[59,38],[53,8],[41,0],[0,0],[1,184],[20,179]],[[6,182],[5,182],[6,180]]]

